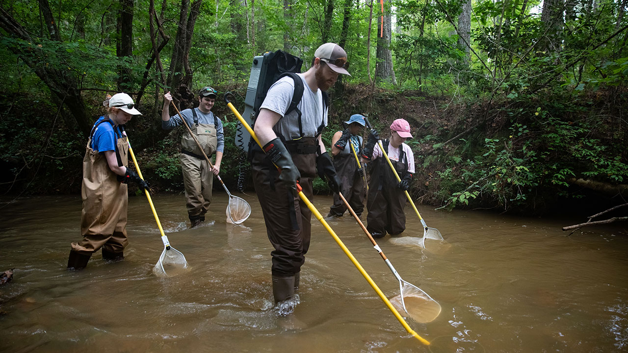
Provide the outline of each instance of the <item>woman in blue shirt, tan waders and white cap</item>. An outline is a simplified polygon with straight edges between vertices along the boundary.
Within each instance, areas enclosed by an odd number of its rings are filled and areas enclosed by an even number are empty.
[[[83,239],[72,243],[68,268],[84,268],[92,253],[101,247],[104,259],[124,258],[124,247],[129,243],[126,183],[136,182],[138,187],[148,189],[148,184],[127,168],[129,142],[123,125],[133,115],[141,115],[133,99],[119,93],[109,99],[106,116],[100,117],[92,128],[83,158]]]

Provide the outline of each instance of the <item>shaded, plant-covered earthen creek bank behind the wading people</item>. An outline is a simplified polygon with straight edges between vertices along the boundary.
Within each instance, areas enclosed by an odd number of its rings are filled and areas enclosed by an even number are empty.
[[[223,87],[227,89],[227,87]],[[220,89],[220,88],[219,88]],[[239,87],[244,96],[246,87]],[[329,126],[323,140],[330,144],[342,121],[355,113],[367,114],[382,136],[391,121],[410,122],[414,139],[416,178],[412,194],[417,204],[497,212],[546,215],[569,207],[590,215],[621,204],[620,195],[590,190],[569,180],[590,180],[606,187],[625,186],[628,180],[628,123],[621,111],[628,106],[624,90],[598,90],[566,97],[549,94],[543,99],[519,100],[498,97],[451,97],[416,90],[387,90],[371,85],[344,85],[332,90]],[[25,99],[11,100],[15,114],[24,114]],[[79,193],[84,138],[67,127],[63,114],[40,97],[42,109],[35,119],[22,118],[18,125],[0,122],[4,128],[4,153],[0,168],[0,192],[9,195]],[[98,97],[90,101],[94,116],[102,114]],[[234,102],[242,110],[243,102]],[[182,107],[181,107],[182,108]],[[146,109],[150,111],[150,109]],[[225,157],[221,176],[230,190],[237,190],[238,176],[244,190],[252,190],[246,156],[234,143],[236,117],[217,104],[214,112],[225,128]],[[141,121],[140,121],[141,119]],[[146,135],[146,124],[159,117],[144,116],[129,126],[144,149],[136,151],[139,164],[153,192],[181,192],[178,151],[183,131],[165,137]],[[46,128],[42,129],[41,126]],[[139,129],[139,130],[138,130]],[[219,187],[219,185],[217,185]],[[322,180],[318,193],[329,190]],[[136,193],[130,187],[131,193]]]

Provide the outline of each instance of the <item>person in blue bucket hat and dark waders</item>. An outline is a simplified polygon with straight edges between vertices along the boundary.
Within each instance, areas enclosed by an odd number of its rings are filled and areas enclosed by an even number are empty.
[[[333,166],[341,182],[342,195],[358,216],[364,210],[364,179],[362,170],[358,166],[355,156],[360,155],[362,150],[362,129],[366,126],[364,116],[354,114],[345,121],[347,128],[345,131],[337,131],[332,138]],[[353,148],[351,148],[353,146]],[[355,153],[355,155],[354,155]],[[362,166],[363,167],[363,166]],[[347,207],[338,196],[333,193],[333,205],[327,217],[340,217],[345,213]]]

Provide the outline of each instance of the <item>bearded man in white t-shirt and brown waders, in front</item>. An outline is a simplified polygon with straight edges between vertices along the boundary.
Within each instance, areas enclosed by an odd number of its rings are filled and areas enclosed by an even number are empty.
[[[349,75],[347,53],[335,43],[325,43],[314,56],[307,72],[294,79],[283,77],[270,87],[254,127],[264,151],[258,148],[253,153],[252,176],[268,239],[274,247],[275,303],[293,298],[310,247],[311,212],[298,197],[296,182],[311,198],[312,180],[318,171],[328,179],[332,190],[340,190],[340,180],[320,134],[327,126],[324,92],[336,82],[339,73]],[[298,79],[305,86],[303,97],[297,109],[286,114]]]

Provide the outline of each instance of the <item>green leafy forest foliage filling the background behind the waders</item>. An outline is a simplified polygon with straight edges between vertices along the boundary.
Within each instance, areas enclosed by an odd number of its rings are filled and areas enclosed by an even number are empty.
[[[67,104],[58,108],[59,87],[43,83],[36,70],[46,68],[77,82],[86,110],[94,117],[102,114],[104,91],[117,91],[119,72],[126,70],[131,77],[120,82],[121,89],[133,94],[144,90],[138,102],[144,117],[129,123],[129,132],[146,141],[146,149],[138,151],[144,173],[169,190],[182,190],[178,133],[166,136],[159,128],[158,92],[168,87],[163,87],[155,63],[146,71],[154,54],[149,2],[133,2],[133,55],[124,58],[117,56],[119,1],[49,4],[58,41],[43,26],[39,3],[3,6],[32,40],[21,40],[6,28],[0,33],[0,72],[5,79],[0,100],[8,107],[0,119],[0,162],[9,171],[1,181],[12,185],[18,180],[31,192],[50,190],[50,185],[68,185],[52,187],[59,192],[77,191],[80,185],[84,138]],[[170,37],[160,52],[166,75],[184,74],[178,68],[170,72],[180,4],[155,2],[164,34]],[[286,49],[300,56],[306,70],[323,35],[330,41],[343,39],[344,3],[334,4],[332,22],[323,26],[328,1],[296,1],[286,8],[276,1],[246,6],[237,1],[203,2],[186,53],[193,74],[189,88],[212,85],[221,93],[232,90],[243,97],[252,57],[269,50]],[[351,4],[345,49],[352,76],[343,82],[360,87],[370,84],[377,62],[379,11],[373,13],[369,48],[371,9],[362,2]],[[462,0],[398,0],[386,9],[394,12],[398,26],[391,44],[398,84],[378,84],[372,104],[382,116],[401,107],[420,107],[406,117],[413,128],[421,124],[425,133],[415,134],[408,144],[416,151],[417,167],[437,186],[427,191],[435,194],[434,202],[526,210],[533,209],[538,198],[579,197],[570,188],[570,178],[625,183],[627,136],[620,112],[628,105],[628,52],[625,31],[616,32],[625,27],[628,16],[618,21],[619,12],[625,10],[621,4],[565,3],[564,21],[554,30],[542,14],[532,12],[542,11],[539,0],[475,1],[468,57],[455,30],[462,4]],[[430,95],[447,102],[435,104],[434,114],[421,117]],[[332,90],[330,125],[322,136],[327,146],[333,133],[342,130],[343,118],[353,113],[345,106],[371,112],[363,98]],[[241,162],[232,143],[236,120],[220,102],[214,111],[223,116],[225,130],[221,176],[232,188]],[[386,130],[386,122],[374,123]],[[450,141],[470,126],[477,129]],[[436,152],[423,157],[421,152],[429,149]],[[327,183],[318,178],[314,188],[317,193],[329,192]]]

